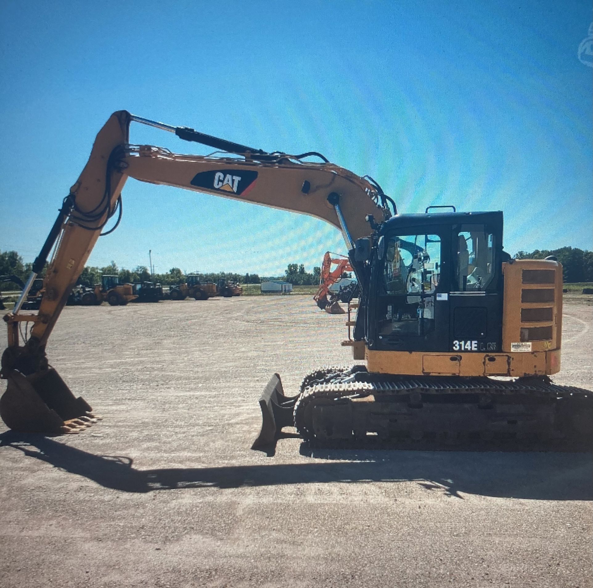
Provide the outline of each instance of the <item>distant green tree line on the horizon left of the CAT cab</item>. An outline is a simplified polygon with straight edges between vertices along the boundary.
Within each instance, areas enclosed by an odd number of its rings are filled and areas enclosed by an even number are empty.
[[[25,281],[31,273],[33,263],[24,263],[23,258],[16,251],[0,251],[0,275],[14,274]],[[45,276],[47,264],[40,273],[40,277]],[[101,276],[104,274],[118,275],[120,282],[160,282],[162,285],[180,284],[185,278],[185,274],[180,268],[171,268],[166,274],[154,274],[151,276],[145,265],[138,265],[134,269],[119,269],[116,262],[112,261],[109,265],[100,268],[98,266],[85,266],[78,278],[77,284],[83,286],[93,286],[101,283]],[[218,282],[224,279],[227,282],[240,282],[242,284],[260,284],[268,280],[285,280],[295,285],[318,284],[321,268],[313,268],[313,273],[305,271],[305,266],[301,263],[289,263],[282,276],[262,276],[258,274],[236,274],[233,272],[189,272],[191,275],[199,276],[202,282]],[[18,284],[8,282],[0,285],[0,290],[18,290]]]

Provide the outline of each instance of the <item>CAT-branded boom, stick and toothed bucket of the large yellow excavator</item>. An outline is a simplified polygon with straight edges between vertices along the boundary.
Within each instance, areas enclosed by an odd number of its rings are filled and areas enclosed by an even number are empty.
[[[222,153],[179,155],[151,145],[131,145],[132,121],[174,132]],[[323,161],[304,161],[311,156]],[[121,217],[121,194],[128,177],[308,214],[339,228],[349,249],[356,239],[371,233],[367,215],[380,222],[391,215],[389,199],[375,182],[329,163],[320,154],[268,153],[126,111],[114,113],[99,131],[87,165],[64,199],[23,294],[13,312],[4,317],[8,348],[2,355],[0,375],[9,380],[9,386],[0,401],[0,415],[11,428],[45,432],[49,421],[60,430],[64,421],[72,421],[71,429],[84,426],[79,417],[88,417],[90,406],[81,398],[74,399],[50,368],[45,347],[101,231],[115,214]],[[52,249],[39,312],[22,314],[28,290]],[[23,322],[32,323],[26,341],[20,337]],[[43,412],[40,400],[59,418],[39,417]]]

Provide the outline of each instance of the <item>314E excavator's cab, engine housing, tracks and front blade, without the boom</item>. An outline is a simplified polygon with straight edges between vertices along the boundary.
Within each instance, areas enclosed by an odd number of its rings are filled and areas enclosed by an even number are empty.
[[[254,449],[288,425],[311,443],[590,443],[590,393],[548,377],[560,370],[556,260],[512,260],[502,212],[402,214],[372,228],[350,250],[362,293],[345,342],[366,365],[314,371],[293,397],[275,374]]]

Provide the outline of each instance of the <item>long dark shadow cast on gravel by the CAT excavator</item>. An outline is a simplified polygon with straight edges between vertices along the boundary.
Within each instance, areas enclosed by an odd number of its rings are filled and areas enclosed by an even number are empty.
[[[307,450],[295,464],[139,470],[132,459],[94,455],[39,435],[8,431],[0,446],[122,492],[221,489],[343,482],[416,482],[452,497],[466,494],[530,500],[592,500],[588,453],[471,453],[390,450]],[[323,461],[321,461],[323,460]]]

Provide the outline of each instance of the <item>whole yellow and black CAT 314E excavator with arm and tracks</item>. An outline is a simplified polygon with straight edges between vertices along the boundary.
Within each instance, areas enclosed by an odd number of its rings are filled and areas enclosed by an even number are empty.
[[[180,155],[130,144],[132,122],[223,153]],[[342,231],[361,288],[353,336],[344,344],[366,365],[320,368],[290,397],[274,374],[260,399],[263,424],[254,447],[273,444],[285,426],[311,443],[591,440],[591,392],[549,379],[560,370],[562,266],[503,252],[502,212],[430,207],[397,214],[371,177],[317,152],[265,152],[125,111],[98,133],[21,297],[4,317],[1,376],[8,386],[0,415],[9,428],[56,434],[94,421],[87,402],[50,367],[46,345],[101,231],[116,214],[119,224],[129,177],[301,212]],[[52,248],[39,312],[23,314]],[[23,322],[30,323],[25,341]]]

